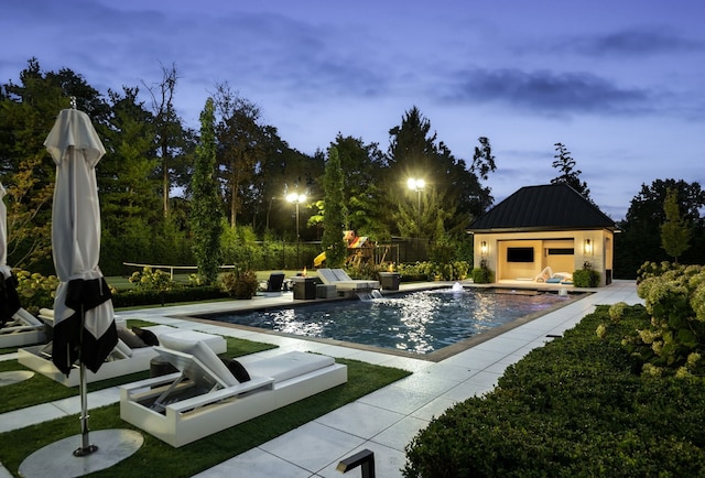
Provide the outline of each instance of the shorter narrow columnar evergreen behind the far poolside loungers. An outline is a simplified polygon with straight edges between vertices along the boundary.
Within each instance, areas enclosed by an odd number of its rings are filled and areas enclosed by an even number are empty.
[[[343,169],[338,150],[328,149],[325,176],[323,178],[325,213],[323,216],[323,240],[321,246],[326,253],[329,268],[340,268],[347,257],[347,245],[343,240],[345,216],[347,214],[343,195]]]

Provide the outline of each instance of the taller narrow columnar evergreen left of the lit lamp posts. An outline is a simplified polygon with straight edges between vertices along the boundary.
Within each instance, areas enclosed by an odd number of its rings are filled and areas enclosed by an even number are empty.
[[[216,175],[216,131],[213,98],[206,100],[200,113],[200,139],[192,178],[191,224],[194,256],[198,274],[209,284],[218,276],[220,265],[220,197]]]

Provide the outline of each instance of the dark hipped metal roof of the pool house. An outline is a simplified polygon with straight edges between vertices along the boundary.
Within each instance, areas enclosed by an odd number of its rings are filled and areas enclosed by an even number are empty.
[[[469,232],[617,229],[593,203],[564,183],[525,186],[478,217]]]

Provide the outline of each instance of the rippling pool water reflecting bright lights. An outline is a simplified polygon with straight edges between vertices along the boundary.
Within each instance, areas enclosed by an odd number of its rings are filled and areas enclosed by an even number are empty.
[[[555,293],[436,289],[370,301],[209,315],[207,318],[307,337],[431,354],[570,300]],[[204,317],[205,318],[205,317]]]

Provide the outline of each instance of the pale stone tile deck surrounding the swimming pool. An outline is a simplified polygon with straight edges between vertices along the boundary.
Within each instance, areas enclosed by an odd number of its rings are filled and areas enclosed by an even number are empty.
[[[423,289],[437,284],[402,284],[401,290]],[[500,285],[516,285],[520,289],[535,287],[536,284],[502,283]],[[344,475],[336,470],[340,459],[367,448],[375,453],[377,476],[388,478],[402,476],[400,469],[405,463],[404,447],[420,430],[429,424],[432,417],[438,416],[457,402],[491,391],[509,365],[516,363],[532,349],[542,347],[552,340],[552,337],[561,336],[564,330],[572,328],[585,315],[593,312],[596,305],[617,302],[643,303],[637,295],[633,281],[615,281],[606,287],[589,291],[594,294],[571,302],[562,308],[437,362],[183,318],[189,314],[286,305],[294,302],[291,293],[257,296],[252,301],[120,312],[119,316],[279,346],[276,349],[257,354],[257,357],[303,350],[412,371],[411,376],[400,381],[196,475],[199,478],[341,477]],[[15,358],[17,354],[0,356],[0,360]],[[242,361],[247,363],[246,360]],[[88,394],[88,404],[91,408],[105,406],[118,401],[118,388]],[[76,396],[4,413],[0,415],[0,433],[77,414],[79,411],[79,398]],[[346,475],[360,476],[360,470],[358,468]],[[11,476],[0,465],[0,478]]]

